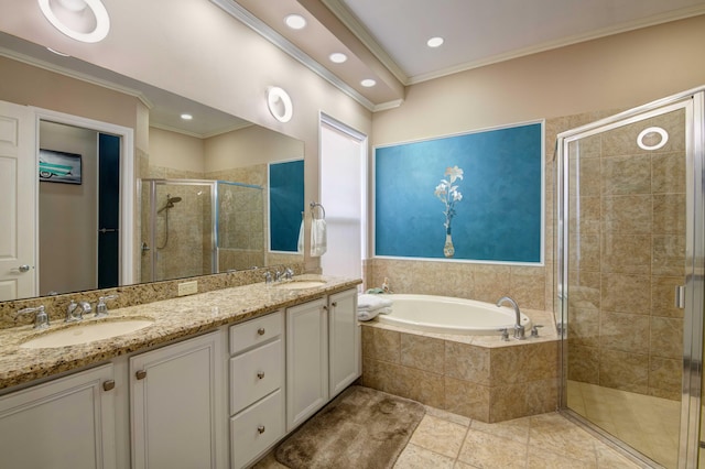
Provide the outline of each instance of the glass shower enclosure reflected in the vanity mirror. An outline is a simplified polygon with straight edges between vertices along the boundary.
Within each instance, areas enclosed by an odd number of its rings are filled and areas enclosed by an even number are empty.
[[[264,264],[260,186],[209,179],[141,179],[142,282]]]

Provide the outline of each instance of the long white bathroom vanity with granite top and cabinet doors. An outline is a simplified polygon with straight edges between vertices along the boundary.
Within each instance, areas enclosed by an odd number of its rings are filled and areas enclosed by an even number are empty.
[[[46,334],[31,326],[0,330],[3,466],[253,462],[360,375],[360,281],[318,283],[115,309],[107,320],[151,324],[70,347],[28,348]]]

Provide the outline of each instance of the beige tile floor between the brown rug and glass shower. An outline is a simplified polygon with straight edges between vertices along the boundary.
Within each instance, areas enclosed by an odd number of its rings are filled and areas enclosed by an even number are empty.
[[[426,407],[394,469],[642,467],[557,413],[485,424]],[[256,466],[283,468],[272,454]]]

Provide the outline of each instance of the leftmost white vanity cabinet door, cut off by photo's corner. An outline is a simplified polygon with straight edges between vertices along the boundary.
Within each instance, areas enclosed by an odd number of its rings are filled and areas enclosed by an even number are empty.
[[[105,364],[0,397],[0,467],[115,469],[112,380]]]

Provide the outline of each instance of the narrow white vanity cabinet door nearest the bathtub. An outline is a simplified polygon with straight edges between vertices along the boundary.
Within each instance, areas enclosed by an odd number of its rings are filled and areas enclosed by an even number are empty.
[[[360,375],[360,326],[357,323],[357,291],[328,297],[330,397]]]

